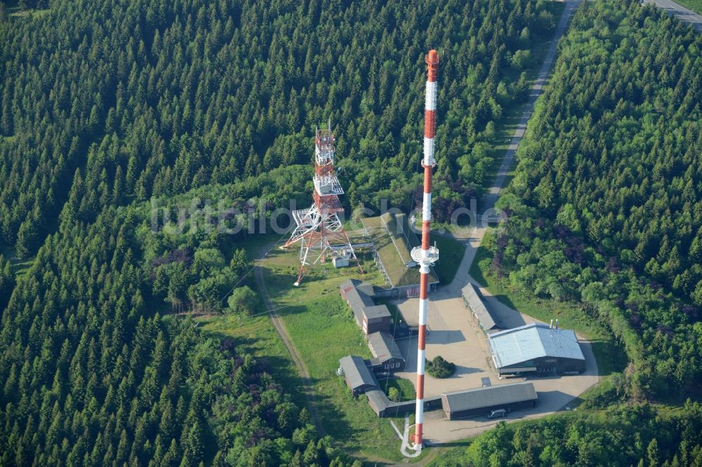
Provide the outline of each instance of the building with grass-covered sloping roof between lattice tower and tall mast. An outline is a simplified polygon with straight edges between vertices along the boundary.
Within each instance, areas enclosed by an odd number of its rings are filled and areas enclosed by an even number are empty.
[[[376,254],[378,269],[390,286],[388,295],[399,297],[419,287],[419,268],[412,259],[412,248],[421,245],[417,234],[411,229],[407,216],[402,213],[385,212],[379,217],[361,219],[366,236],[371,239]],[[429,285],[435,290],[439,284],[434,269],[429,273]]]

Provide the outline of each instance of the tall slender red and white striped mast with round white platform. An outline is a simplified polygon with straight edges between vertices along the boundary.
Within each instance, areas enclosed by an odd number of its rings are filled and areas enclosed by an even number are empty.
[[[439,250],[429,245],[432,222],[432,170],[437,165],[434,160],[434,135],[436,132],[437,74],[439,73],[439,53],[430,50],[425,57],[427,62],[427,90],[424,109],[424,199],[422,205],[422,246],[412,249],[412,259],[419,264],[419,334],[417,339],[417,406],[414,426],[414,449],[422,450],[422,430],[424,424],[424,366],[425,338],[427,334],[427,306],[430,266],[439,259]]]

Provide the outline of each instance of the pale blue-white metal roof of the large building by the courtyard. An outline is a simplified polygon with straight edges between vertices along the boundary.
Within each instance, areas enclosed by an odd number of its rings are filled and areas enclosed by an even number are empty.
[[[542,323],[496,332],[489,336],[488,344],[500,368],[542,357],[585,360],[574,331]]]

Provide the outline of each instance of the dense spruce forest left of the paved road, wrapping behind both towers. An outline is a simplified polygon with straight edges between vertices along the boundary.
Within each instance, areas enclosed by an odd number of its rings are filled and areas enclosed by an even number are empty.
[[[406,207],[432,46],[435,192],[460,205],[527,95],[545,2],[22,2],[46,6],[0,8],[0,465],[352,463],[265,361],[171,314],[221,309],[246,231],[152,231],[149,200],[178,224],[194,197],[305,198],[331,118],[351,206]]]

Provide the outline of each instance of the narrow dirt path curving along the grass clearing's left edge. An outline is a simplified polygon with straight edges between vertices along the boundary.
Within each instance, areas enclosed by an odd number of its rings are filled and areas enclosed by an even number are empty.
[[[263,297],[263,302],[265,303],[265,307],[268,310],[268,316],[270,316],[270,320],[273,323],[275,330],[277,330],[278,334],[280,335],[280,338],[283,341],[283,344],[285,344],[285,348],[288,349],[288,353],[290,353],[290,356],[293,358],[295,366],[298,367],[300,379],[302,380],[303,384],[301,389],[302,392],[305,394],[305,397],[307,398],[307,410],[312,416],[312,421],[314,421],[314,426],[317,428],[317,433],[319,433],[319,436],[325,436],[326,431],[324,430],[324,426],[322,426],[322,419],[319,418],[319,412],[317,411],[317,399],[314,396],[314,388],[312,388],[310,372],[307,371],[307,366],[305,365],[305,362],[303,362],[303,359],[298,353],[298,349],[295,348],[293,341],[290,339],[290,334],[288,334],[288,330],[286,330],[283,321],[280,319],[280,316],[278,316],[278,313],[274,311],[275,306],[273,305],[273,302],[270,299],[268,289],[265,287],[265,280],[263,278],[263,267],[261,267],[260,261],[261,259],[265,258],[270,249],[274,247],[275,244],[270,244],[266,245],[260,250],[256,259],[256,265],[253,267],[253,276],[254,278],[256,278],[256,285],[258,285],[258,290],[260,290],[261,296]]]

